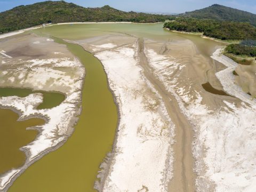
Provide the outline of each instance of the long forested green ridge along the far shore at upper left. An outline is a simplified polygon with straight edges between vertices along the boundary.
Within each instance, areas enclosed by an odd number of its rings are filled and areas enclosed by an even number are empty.
[[[65,1],[46,1],[21,5],[0,13],[0,34],[47,22],[159,22],[167,19],[169,19],[168,15],[124,12],[108,5],[100,8],[85,8]]]

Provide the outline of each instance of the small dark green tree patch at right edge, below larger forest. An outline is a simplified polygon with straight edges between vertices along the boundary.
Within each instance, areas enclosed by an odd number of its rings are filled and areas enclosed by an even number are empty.
[[[256,47],[244,46],[239,44],[230,44],[226,46],[226,53],[234,55],[246,55],[248,57],[256,57]]]

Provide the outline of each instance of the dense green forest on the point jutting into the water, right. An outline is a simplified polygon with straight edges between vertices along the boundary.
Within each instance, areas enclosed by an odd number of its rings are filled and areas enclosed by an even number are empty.
[[[203,33],[205,36],[222,40],[256,39],[256,27],[244,22],[172,17],[164,27],[170,30]]]

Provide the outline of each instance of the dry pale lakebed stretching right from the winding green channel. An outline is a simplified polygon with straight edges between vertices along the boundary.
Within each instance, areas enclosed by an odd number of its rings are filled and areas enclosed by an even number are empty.
[[[99,191],[255,187],[255,102],[235,84],[223,45],[196,38],[76,41],[101,60],[121,116]]]

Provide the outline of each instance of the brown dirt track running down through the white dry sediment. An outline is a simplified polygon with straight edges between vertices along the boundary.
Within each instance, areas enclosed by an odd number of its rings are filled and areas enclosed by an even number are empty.
[[[144,52],[144,41],[138,39],[138,55],[140,66],[144,69],[145,76],[154,85],[155,89],[161,94],[168,114],[175,124],[175,143],[174,150],[174,172],[173,179],[169,183],[170,192],[190,192],[195,191],[195,174],[193,172],[194,159],[191,152],[193,141],[193,130],[187,118],[180,112],[178,102],[169,93],[163,83],[153,74],[154,69],[149,66]]]

